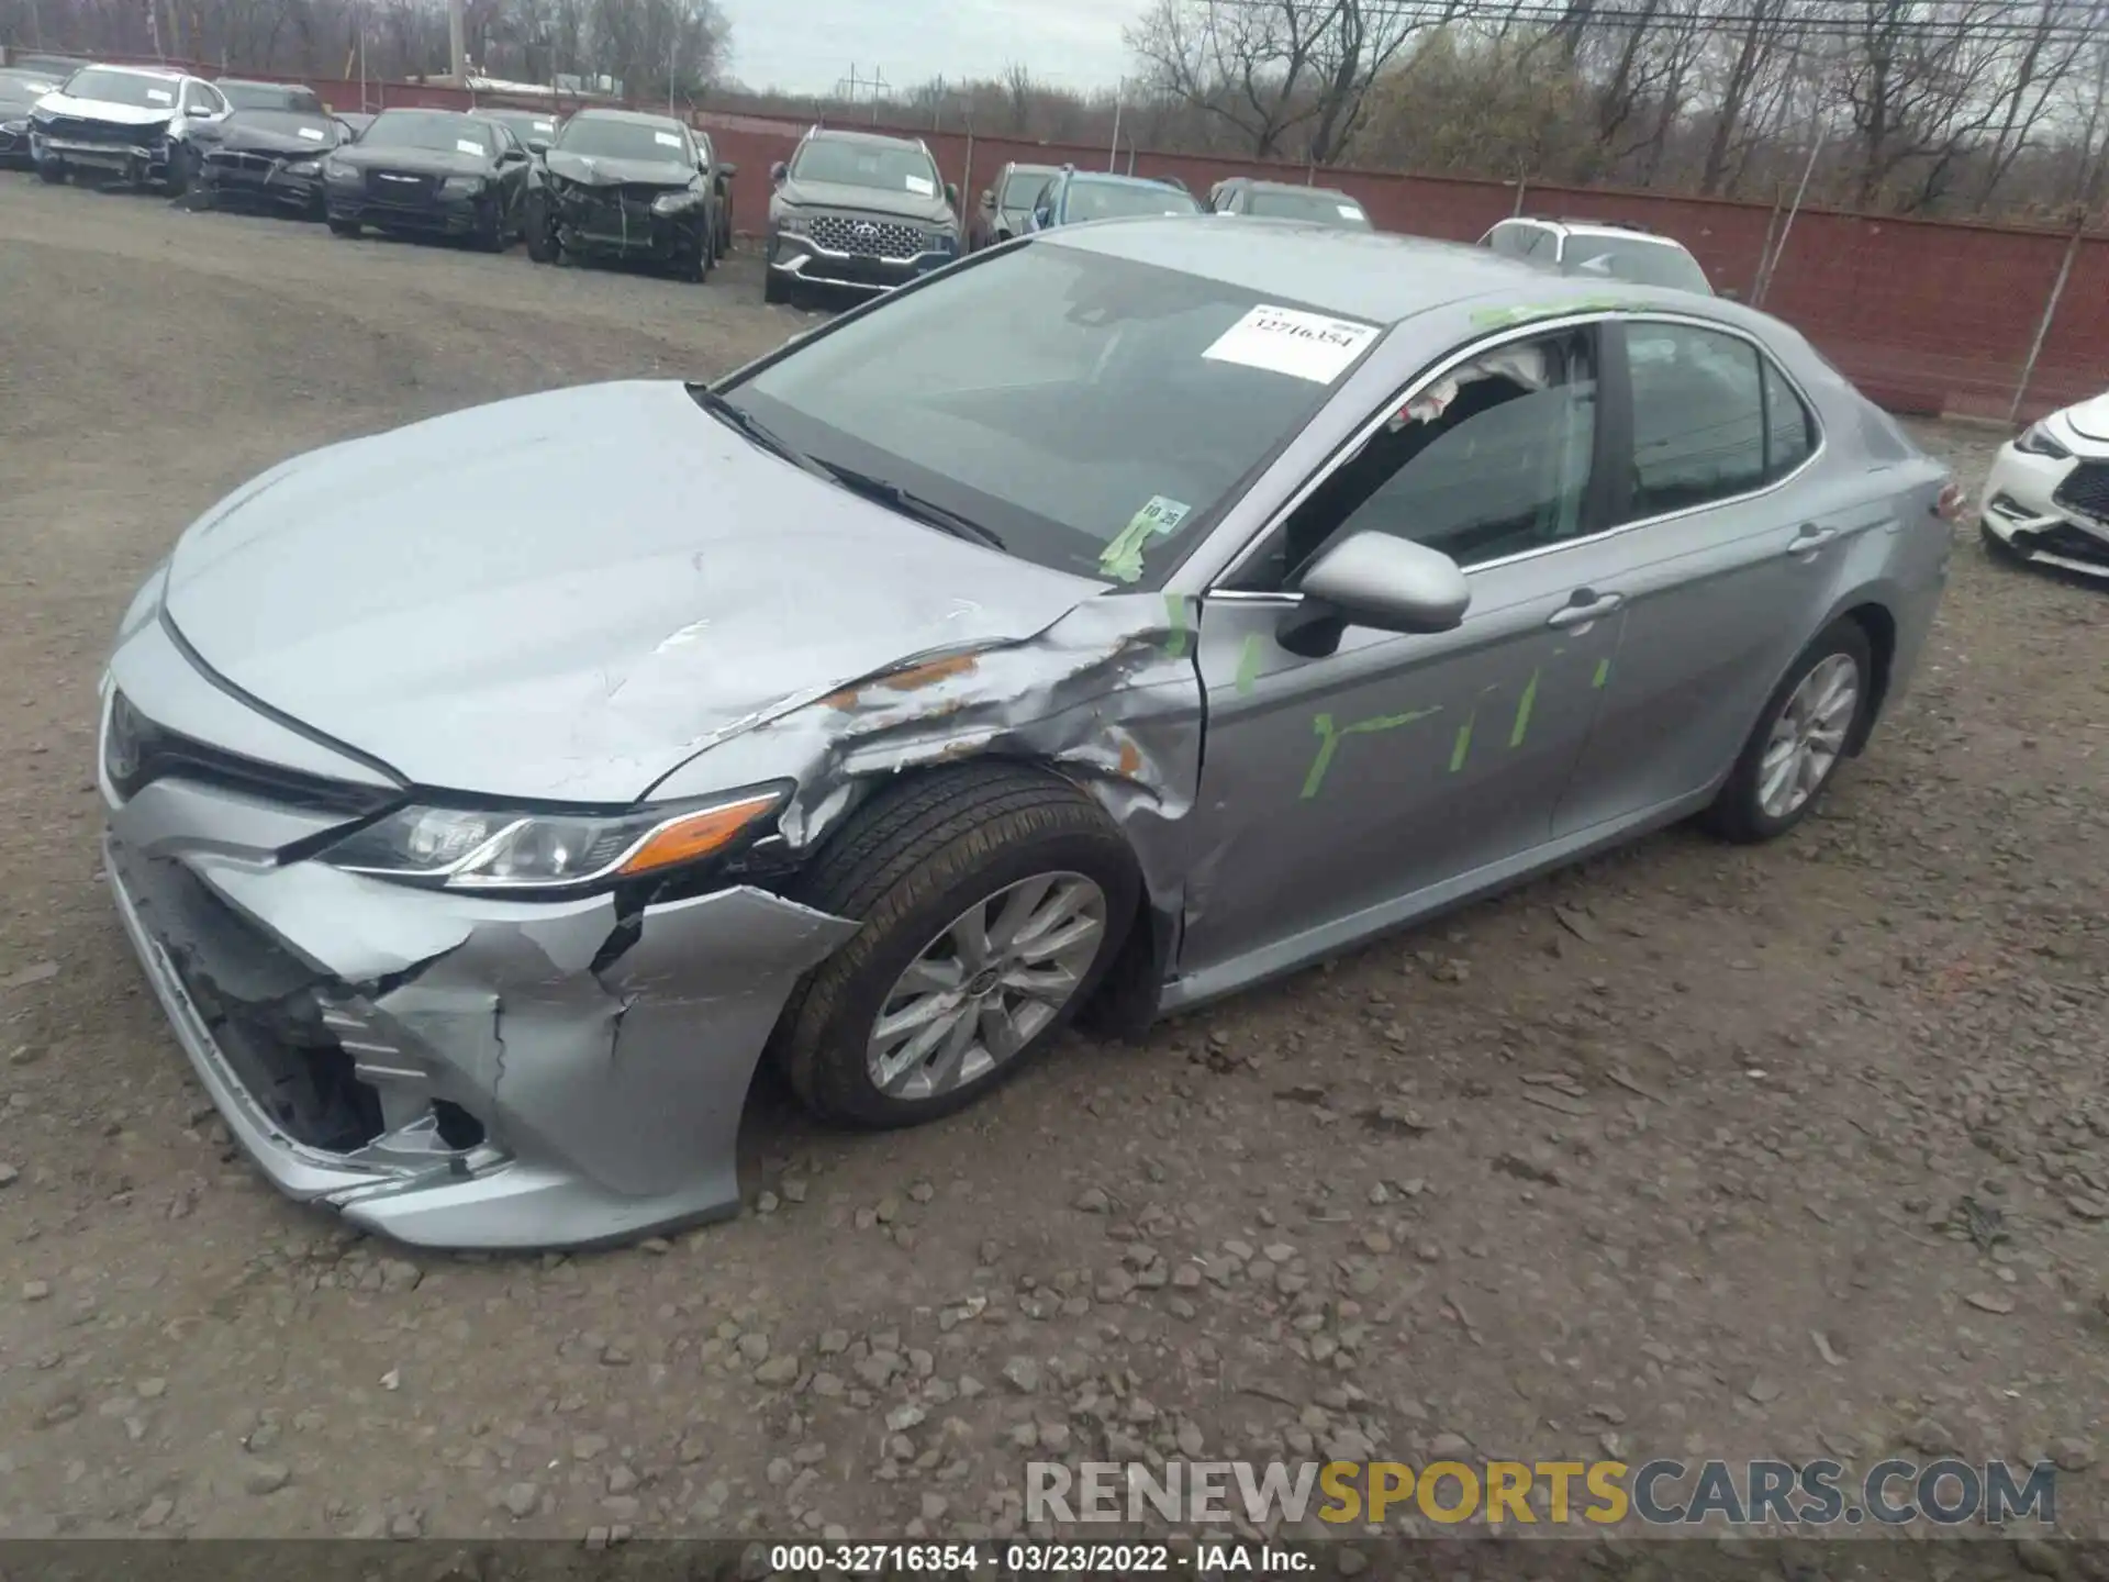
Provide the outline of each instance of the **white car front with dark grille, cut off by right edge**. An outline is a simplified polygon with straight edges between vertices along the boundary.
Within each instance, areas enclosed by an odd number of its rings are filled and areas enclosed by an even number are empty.
[[[1999,555],[2109,578],[2109,394],[1999,447],[1980,525]]]

